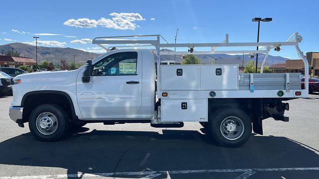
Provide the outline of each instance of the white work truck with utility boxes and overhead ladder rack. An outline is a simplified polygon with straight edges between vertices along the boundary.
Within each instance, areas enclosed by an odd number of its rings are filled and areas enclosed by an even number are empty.
[[[136,40],[134,38],[144,38]],[[145,39],[145,38],[153,39]],[[292,38],[295,37],[293,40]],[[122,38],[122,39],[121,39]],[[155,39],[154,39],[155,38]],[[108,52],[73,71],[41,72],[15,77],[10,118],[20,127],[29,122],[40,141],[61,139],[70,127],[86,123],[151,123],[152,127],[182,127],[200,122],[220,145],[238,147],[255,133],[262,120],[289,121],[283,101],[308,96],[308,62],[298,47],[302,37],[284,42],[168,44],[160,35],[97,37]],[[106,48],[103,44],[130,44]],[[240,74],[238,65],[161,65],[160,55],[265,53],[295,46],[305,62],[306,89],[301,74]],[[141,49],[153,46],[156,50]],[[266,50],[216,51],[216,47],[264,46]],[[141,48],[140,48],[141,47]],[[160,48],[188,48],[160,51]],[[195,51],[197,47],[214,47]],[[110,50],[112,49],[112,50]]]

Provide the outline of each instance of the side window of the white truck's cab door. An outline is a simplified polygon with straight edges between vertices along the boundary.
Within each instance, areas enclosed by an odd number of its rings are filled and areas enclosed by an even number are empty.
[[[137,61],[137,52],[109,55],[93,65],[93,76],[137,75]]]

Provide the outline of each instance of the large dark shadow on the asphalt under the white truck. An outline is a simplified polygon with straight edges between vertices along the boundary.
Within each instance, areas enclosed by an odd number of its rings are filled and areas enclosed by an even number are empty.
[[[253,135],[240,148],[223,148],[195,130],[162,130],[162,134],[93,130],[53,143],[36,141],[30,133],[8,139],[0,143],[0,164],[64,168],[70,175],[318,167],[314,151],[285,137]]]

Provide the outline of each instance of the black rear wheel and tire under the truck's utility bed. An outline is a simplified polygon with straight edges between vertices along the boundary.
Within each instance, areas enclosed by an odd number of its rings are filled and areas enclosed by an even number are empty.
[[[252,133],[249,116],[237,108],[224,108],[212,112],[208,125],[211,137],[223,147],[242,146]]]

